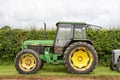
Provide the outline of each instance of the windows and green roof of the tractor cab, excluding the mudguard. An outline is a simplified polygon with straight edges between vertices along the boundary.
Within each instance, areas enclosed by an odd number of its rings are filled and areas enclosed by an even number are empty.
[[[86,23],[57,23],[56,45],[65,46],[68,41],[86,39],[86,27]]]

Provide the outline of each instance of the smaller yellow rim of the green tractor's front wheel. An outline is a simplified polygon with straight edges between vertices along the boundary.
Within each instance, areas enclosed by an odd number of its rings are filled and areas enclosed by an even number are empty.
[[[19,59],[19,66],[24,71],[32,71],[36,67],[36,58],[30,53],[23,54]]]

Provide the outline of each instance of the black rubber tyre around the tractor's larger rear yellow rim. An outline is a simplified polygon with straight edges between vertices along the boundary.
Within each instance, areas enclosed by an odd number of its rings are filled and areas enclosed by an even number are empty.
[[[89,50],[91,52],[90,55],[92,55],[92,57],[93,57],[93,60],[92,60],[91,64],[87,64],[87,65],[90,65],[90,66],[87,69],[85,69],[85,70],[76,69],[72,65],[73,64],[71,62],[72,60],[70,60],[70,55],[71,56],[74,55],[74,54],[72,54],[72,51],[74,49],[76,49],[77,47],[84,47],[85,49]],[[77,50],[75,50],[75,51],[77,51]],[[81,53],[79,53],[79,54],[81,54]],[[65,64],[66,68],[68,69],[68,71],[71,72],[71,73],[74,73],[74,74],[88,74],[88,73],[93,71],[93,69],[96,67],[97,63],[98,63],[98,55],[97,55],[96,50],[94,49],[94,47],[92,45],[90,45],[90,44],[88,44],[86,42],[75,42],[75,43],[72,43],[70,46],[68,46],[68,48],[64,52],[64,64]]]

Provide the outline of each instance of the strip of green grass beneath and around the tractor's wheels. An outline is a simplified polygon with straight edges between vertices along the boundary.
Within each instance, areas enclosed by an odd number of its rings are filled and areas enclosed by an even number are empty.
[[[25,74],[19,74],[14,65],[2,65],[0,66],[0,76],[26,76]],[[63,65],[44,65],[41,70],[31,76],[120,76],[117,71],[110,70],[109,67],[97,66],[96,69],[90,74],[71,74]]]

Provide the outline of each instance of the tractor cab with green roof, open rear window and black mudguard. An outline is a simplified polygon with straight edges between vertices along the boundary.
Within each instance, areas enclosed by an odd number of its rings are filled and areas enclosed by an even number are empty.
[[[64,53],[64,49],[73,42],[85,41],[93,44],[92,41],[87,40],[87,28],[95,27],[83,22],[58,22],[56,24],[57,31],[54,41],[55,53]],[[98,27],[98,26],[97,26]]]

